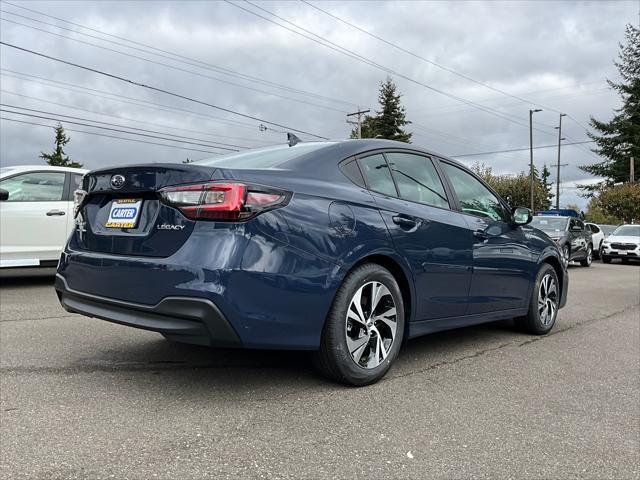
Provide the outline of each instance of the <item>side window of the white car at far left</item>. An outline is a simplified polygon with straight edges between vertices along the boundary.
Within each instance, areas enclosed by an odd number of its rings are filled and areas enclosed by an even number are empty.
[[[64,192],[64,172],[23,173],[0,181],[7,202],[57,202]]]

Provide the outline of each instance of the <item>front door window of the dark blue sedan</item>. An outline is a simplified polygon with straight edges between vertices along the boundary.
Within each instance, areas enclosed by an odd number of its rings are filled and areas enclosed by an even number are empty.
[[[509,214],[498,197],[476,177],[445,162],[442,162],[442,168],[451,181],[464,213],[491,220],[509,220]]]

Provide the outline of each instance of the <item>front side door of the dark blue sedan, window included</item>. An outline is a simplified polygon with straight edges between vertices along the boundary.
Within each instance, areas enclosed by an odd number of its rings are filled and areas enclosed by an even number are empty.
[[[468,314],[523,308],[535,275],[537,253],[506,204],[468,170],[441,161],[473,238]]]

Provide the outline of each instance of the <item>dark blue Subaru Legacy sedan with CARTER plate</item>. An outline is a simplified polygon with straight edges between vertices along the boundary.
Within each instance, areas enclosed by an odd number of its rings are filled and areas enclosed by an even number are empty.
[[[387,140],[94,170],[56,278],[70,312],[199,345],[313,351],[379,380],[406,339],[553,327],[555,243],[459,163]]]

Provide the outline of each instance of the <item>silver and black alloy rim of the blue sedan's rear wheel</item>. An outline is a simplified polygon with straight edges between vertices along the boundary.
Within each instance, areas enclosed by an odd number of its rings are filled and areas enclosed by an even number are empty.
[[[353,361],[372,369],[391,352],[398,329],[396,304],[389,289],[380,282],[360,287],[349,304],[346,340]]]

